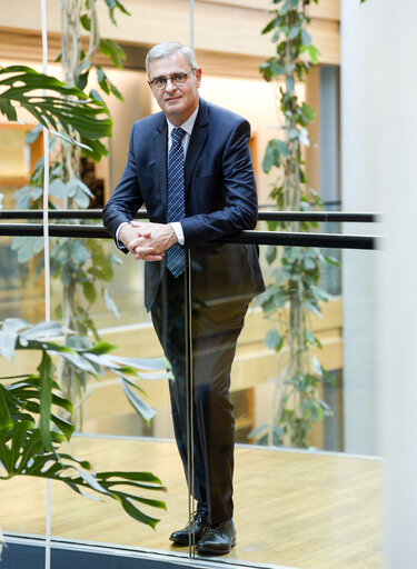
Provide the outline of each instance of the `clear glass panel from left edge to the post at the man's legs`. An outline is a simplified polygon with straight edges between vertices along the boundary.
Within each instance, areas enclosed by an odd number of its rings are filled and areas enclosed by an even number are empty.
[[[30,242],[30,239],[29,239]],[[51,239],[51,243],[57,240]],[[61,241],[62,242],[62,241]],[[68,243],[75,247],[76,240]],[[22,309],[22,292],[26,287],[24,299],[28,307],[37,303],[43,308],[41,290],[43,274],[39,283],[34,283],[30,271],[32,263],[19,266],[16,253],[10,253],[12,240],[1,239],[1,251],[4,262],[1,273],[1,290],[4,295],[1,306],[0,319],[24,317],[36,323],[43,320],[41,309],[37,312],[38,319],[32,319],[28,311]],[[113,251],[122,258],[123,264],[117,267],[115,281],[109,284],[111,298],[119,305],[120,317],[111,315],[102,299],[93,305],[90,315],[93,318],[101,340],[117,346],[115,356],[122,358],[160,358],[163,356],[158,336],[153,330],[150,313],[143,308],[149,307],[152,290],[160,291],[153,302],[153,318],[158,319],[160,338],[168,335],[176,338],[179,343],[177,351],[168,353],[172,363],[180,360],[183,367],[183,278],[173,290],[172,283],[162,282],[159,289],[159,263],[147,266],[147,288],[143,287],[143,263],[136,262],[116,250],[109,240],[100,243],[107,251]],[[87,240],[83,246],[88,249]],[[96,243],[97,244],[97,243]],[[120,270],[119,270],[120,267]],[[87,270],[88,266],[85,266]],[[119,270],[119,272],[118,272]],[[152,274],[150,274],[152,272]],[[13,276],[13,278],[12,278]],[[155,281],[155,282],[153,282]],[[106,283],[105,283],[106,284]],[[99,287],[97,287],[100,291]],[[167,297],[167,291],[170,291]],[[52,280],[52,311],[62,302],[62,283],[59,279]],[[13,296],[14,295],[14,296]],[[89,303],[78,291],[77,306],[89,310]],[[16,305],[11,306],[11,300]],[[173,305],[173,300],[179,303]],[[170,305],[169,305],[170,302]],[[158,312],[159,310],[159,312]],[[176,312],[177,311],[177,312]],[[175,328],[172,330],[172,327]],[[110,352],[112,353],[112,351]],[[1,375],[32,373],[39,365],[39,352],[19,351],[13,362],[1,358]],[[60,377],[60,366],[56,362],[57,377]],[[68,371],[68,370],[67,370]],[[66,373],[63,373],[66,376]],[[142,372],[147,376],[147,372]],[[76,383],[77,382],[77,383]],[[153,532],[149,526],[140,523],[129,517],[121,505],[116,500],[107,499],[106,503],[89,500],[76,495],[61,482],[52,482],[52,536],[106,543],[120,543],[131,547],[168,549],[171,545],[170,533],[182,527],[188,519],[187,486],[183,467],[178,455],[173,439],[171,420],[169,380],[138,378],[136,383],[145,393],[136,392],[142,399],[142,412],[149,412],[146,422],[130,403],[126,389],[120,379],[112,372],[106,372],[101,380],[91,381],[82,376],[72,376],[71,398],[76,403],[78,432],[72,436],[71,442],[62,451],[77,459],[89,460],[96,472],[100,471],[135,471],[152,472],[165,487],[163,491],[141,490],[139,496],[146,499],[163,500],[168,512],[141,502],[137,506],[148,516],[161,519],[158,531]],[[73,397],[72,397],[73,396]],[[145,407],[146,406],[146,407]],[[156,411],[153,415],[152,409]],[[143,411],[145,410],[145,411]],[[120,487],[129,491],[129,487]],[[86,488],[86,493],[92,490]],[[3,531],[13,531],[31,535],[43,535],[46,526],[46,482],[29,477],[16,477],[0,485],[0,500],[4,515],[1,520]],[[135,502],[133,502],[135,503]]]

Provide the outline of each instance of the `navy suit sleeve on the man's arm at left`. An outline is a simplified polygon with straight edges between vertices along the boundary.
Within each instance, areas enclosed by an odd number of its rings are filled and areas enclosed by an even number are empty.
[[[116,240],[116,232],[121,223],[130,222],[143,203],[140,193],[138,172],[135,158],[135,126],[130,133],[128,162],[116,186],[115,191],[102,210],[102,222],[107,231]]]

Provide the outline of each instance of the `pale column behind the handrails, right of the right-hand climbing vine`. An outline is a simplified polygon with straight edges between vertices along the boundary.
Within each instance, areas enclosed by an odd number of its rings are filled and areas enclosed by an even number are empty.
[[[376,0],[367,0],[370,4]],[[378,73],[370,44],[374,27],[359,0],[341,2],[341,200],[345,211],[376,211],[375,142],[379,134]],[[371,224],[346,223],[346,233],[374,233]],[[378,252],[342,251],[345,450],[379,455],[380,392],[377,366]]]

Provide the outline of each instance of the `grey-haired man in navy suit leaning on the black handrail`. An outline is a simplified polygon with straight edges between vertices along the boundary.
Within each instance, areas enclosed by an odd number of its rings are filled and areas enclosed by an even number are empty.
[[[149,86],[162,112],[133,124],[128,163],[103,223],[120,248],[146,263],[145,303],[172,365],[172,419],[187,476],[185,250],[191,251],[193,478],[191,520],[199,553],[236,543],[232,521],[234,418],[230,368],[248,303],[264,290],[257,249],[219,238],[257,222],[249,123],[199,98],[201,69],[178,42],[147,56]],[[145,203],[149,223],[132,221]],[[189,525],[175,531],[189,543]]]

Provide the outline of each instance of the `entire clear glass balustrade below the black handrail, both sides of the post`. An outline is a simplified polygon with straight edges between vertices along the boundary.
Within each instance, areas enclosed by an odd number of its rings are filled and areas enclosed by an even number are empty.
[[[89,309],[100,337],[117,346],[113,353],[120,357],[161,357],[151,313],[143,308],[149,295],[143,286],[143,264],[117,251],[112,242],[100,241],[122,261],[116,266],[113,281],[106,284],[119,316],[109,312],[103,300]],[[33,279],[32,261],[17,262],[11,242],[4,237],[0,240],[0,319],[18,316],[36,323],[43,318],[42,283]],[[190,253],[188,323],[192,330],[190,397],[195,405],[188,420],[192,425],[195,485],[201,470],[196,450],[201,418],[208,413],[202,421],[203,436],[220,440],[216,458],[208,461],[209,476],[216,480],[231,468],[232,438],[227,430],[232,425],[228,419],[231,410],[234,417],[237,545],[218,558],[221,563],[300,569],[383,563],[383,460],[375,405],[379,396],[375,267],[380,253],[329,249],[325,254],[331,259],[318,261],[316,254],[317,250],[309,253],[302,248],[279,247],[274,251],[260,246],[258,274],[252,246],[214,246]],[[269,263],[267,259],[272,258]],[[304,270],[302,287],[299,274],[289,270],[289,263],[297,260]],[[158,269],[156,273],[158,279]],[[297,295],[306,293],[309,276],[315,296],[302,312]],[[173,346],[167,355],[177,376],[186,376],[181,279],[178,290],[172,279],[162,283],[160,313],[153,315],[160,339],[169,338]],[[288,279],[294,287],[292,297],[287,298],[284,289]],[[62,287],[54,280],[52,299],[53,306],[62,301]],[[2,375],[34,370],[38,355],[22,353],[12,363],[2,358]],[[216,381],[227,383],[231,359],[226,405],[215,388]],[[159,477],[167,492],[145,492],[143,497],[165,500],[167,511],[138,505],[161,520],[156,531],[127,516],[113,500],[92,501],[52,482],[53,539],[189,556],[188,547],[176,547],[169,540],[188,519],[185,470],[192,470],[192,463],[181,462],[177,449],[169,381],[172,389],[172,380],[138,380],[146,395],[137,395],[149,406],[143,409],[150,413],[150,408],[155,410],[148,422],[135,410],[115,373],[88,381],[77,401],[78,432],[67,449],[77,458],[88,458],[97,471],[149,471]],[[185,378],[177,377],[176,381]],[[182,390],[175,397],[181,399],[180,408],[187,409],[187,393]],[[211,401],[206,410],[201,403],[205,397]],[[221,405],[216,411],[218,398]],[[187,440],[180,445],[187,446]],[[198,495],[196,486],[193,493]],[[2,481],[0,501],[4,532],[44,535],[43,480],[17,477]],[[197,507],[197,501],[192,506]]]

